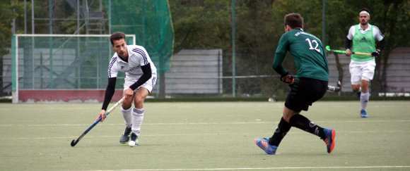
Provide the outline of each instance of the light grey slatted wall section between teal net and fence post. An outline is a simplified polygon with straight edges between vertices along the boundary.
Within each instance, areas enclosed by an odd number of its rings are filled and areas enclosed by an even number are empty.
[[[165,73],[166,94],[222,94],[222,50],[182,50]]]

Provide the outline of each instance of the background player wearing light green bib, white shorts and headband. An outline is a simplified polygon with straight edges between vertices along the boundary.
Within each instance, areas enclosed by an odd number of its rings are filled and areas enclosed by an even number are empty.
[[[361,102],[361,118],[368,118],[366,108],[370,99],[369,83],[373,80],[376,67],[376,56],[385,48],[385,35],[375,25],[370,25],[370,11],[361,8],[358,19],[360,24],[352,25],[346,37],[346,56],[351,56],[349,72],[351,89],[358,93]],[[379,42],[376,46],[376,42]],[[372,56],[352,54],[351,51],[371,53]]]

